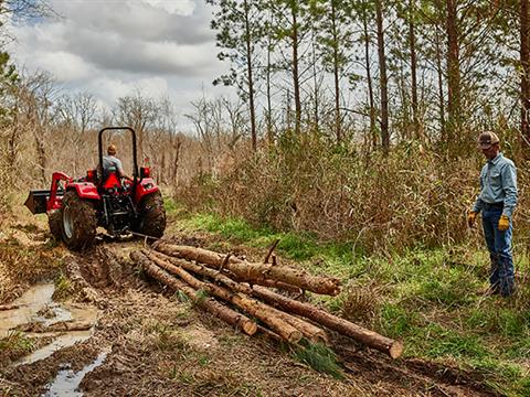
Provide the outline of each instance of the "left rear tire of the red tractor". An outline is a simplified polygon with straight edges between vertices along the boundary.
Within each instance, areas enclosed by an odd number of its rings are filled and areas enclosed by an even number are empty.
[[[62,235],[63,242],[72,250],[82,250],[94,244],[97,217],[94,204],[83,200],[75,191],[63,197]]]

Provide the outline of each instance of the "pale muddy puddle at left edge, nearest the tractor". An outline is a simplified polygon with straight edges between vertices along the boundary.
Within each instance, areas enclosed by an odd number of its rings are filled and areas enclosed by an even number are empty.
[[[0,337],[8,336],[9,330],[17,325],[38,321],[36,313],[52,302],[53,291],[52,283],[35,285],[13,302],[19,308],[0,311]]]

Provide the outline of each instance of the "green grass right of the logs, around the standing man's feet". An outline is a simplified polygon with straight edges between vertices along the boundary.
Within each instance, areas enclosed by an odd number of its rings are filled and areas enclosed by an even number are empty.
[[[485,249],[415,248],[367,256],[354,253],[352,244],[319,243],[311,235],[276,233],[212,214],[188,215],[179,225],[218,234],[225,243],[259,247],[264,253],[279,239],[276,253],[280,257],[296,260],[314,273],[339,277],[353,289],[377,290],[363,325],[403,341],[405,357],[457,363],[484,375],[500,394],[530,395],[530,286],[519,280],[518,296],[509,300],[480,294],[488,286]],[[516,268],[520,276],[530,272],[522,249],[516,253]],[[324,301],[328,310],[341,312],[352,303],[350,293],[351,289],[344,288],[338,297],[311,297]],[[353,301],[353,310],[360,303]],[[330,357],[317,347],[297,351],[295,356],[318,371],[333,373],[325,369]]]

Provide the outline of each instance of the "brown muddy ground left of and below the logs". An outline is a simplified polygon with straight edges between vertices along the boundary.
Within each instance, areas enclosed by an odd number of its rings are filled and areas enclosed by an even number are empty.
[[[336,379],[300,364],[287,346],[279,346],[264,335],[239,333],[147,279],[128,258],[130,250],[144,244],[141,240],[99,239],[94,249],[77,255],[53,246],[44,224],[31,227],[18,224],[11,232],[3,233],[4,242],[14,238],[22,246],[36,250],[42,247],[43,251],[61,257],[63,283],[61,287],[59,282],[61,288],[57,287],[53,299],[60,304],[95,312],[96,316],[91,323],[89,337],[36,362],[19,364],[25,353],[10,348],[0,352],[2,395],[497,395],[476,374],[414,358],[392,361],[338,336],[333,350],[344,378]],[[206,247],[220,244],[214,236],[184,236],[171,225],[168,238]],[[248,249],[247,254],[263,256],[255,249]],[[53,277],[57,285],[56,269]],[[14,289],[13,301],[35,281]],[[38,350],[61,334],[64,333],[28,336],[34,341],[32,350]]]

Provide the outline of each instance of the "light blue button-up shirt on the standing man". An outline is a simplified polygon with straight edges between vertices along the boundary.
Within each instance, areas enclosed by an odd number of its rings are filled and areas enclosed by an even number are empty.
[[[488,160],[480,171],[480,194],[473,211],[480,212],[484,203],[504,203],[502,215],[511,217],[517,205],[517,169],[502,153]]]

